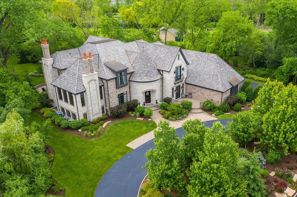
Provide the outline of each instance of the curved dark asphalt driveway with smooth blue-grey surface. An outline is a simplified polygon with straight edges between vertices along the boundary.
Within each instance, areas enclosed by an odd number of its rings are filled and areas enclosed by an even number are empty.
[[[216,121],[226,125],[227,121],[232,120],[210,120],[203,123],[211,127]],[[178,128],[176,134],[181,138],[185,133],[182,128]],[[136,197],[140,184],[147,174],[142,166],[148,161],[144,154],[150,148],[155,148],[153,140],[144,143],[114,163],[98,183],[95,197]]]

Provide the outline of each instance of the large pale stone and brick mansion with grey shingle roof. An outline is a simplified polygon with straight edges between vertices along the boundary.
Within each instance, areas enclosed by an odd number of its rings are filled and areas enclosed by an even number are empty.
[[[216,54],[143,40],[124,43],[90,36],[75,49],[50,55],[42,39],[42,68],[48,97],[69,118],[94,120],[132,99],[155,104],[192,93],[220,104],[244,81]]]

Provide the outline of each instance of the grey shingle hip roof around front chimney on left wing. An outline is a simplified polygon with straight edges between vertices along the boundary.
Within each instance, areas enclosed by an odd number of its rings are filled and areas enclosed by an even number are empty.
[[[94,70],[98,70],[99,55],[93,55]],[[82,76],[85,73],[83,67],[83,58],[78,58],[69,68],[67,68],[52,85],[69,91],[73,94],[78,94],[86,91],[83,86]],[[103,85],[99,80],[99,85]]]

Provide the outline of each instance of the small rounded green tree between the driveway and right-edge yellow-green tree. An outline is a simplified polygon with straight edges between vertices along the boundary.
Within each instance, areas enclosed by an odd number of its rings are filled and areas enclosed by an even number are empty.
[[[229,124],[230,135],[239,146],[246,145],[261,130],[261,120],[251,110],[234,114]]]

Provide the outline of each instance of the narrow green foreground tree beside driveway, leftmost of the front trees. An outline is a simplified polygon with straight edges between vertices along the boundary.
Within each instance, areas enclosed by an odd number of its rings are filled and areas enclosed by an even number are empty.
[[[155,188],[165,190],[184,188],[185,181],[179,161],[180,139],[175,135],[175,129],[169,122],[160,120],[158,129],[154,130],[156,148],[146,152],[148,162],[144,168],[148,172],[148,179]]]

